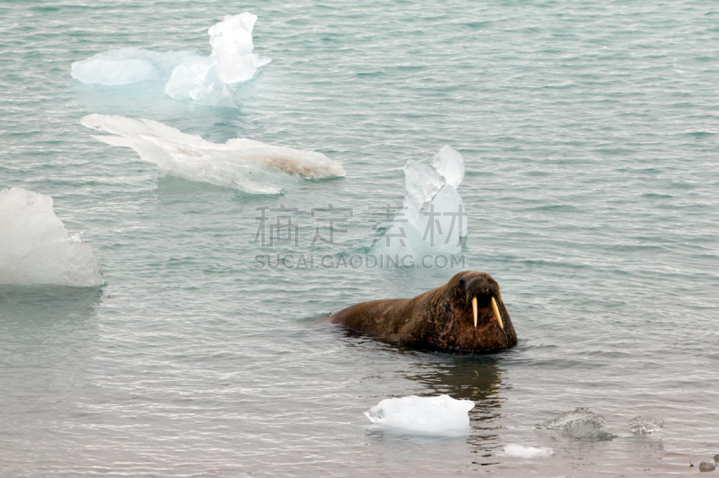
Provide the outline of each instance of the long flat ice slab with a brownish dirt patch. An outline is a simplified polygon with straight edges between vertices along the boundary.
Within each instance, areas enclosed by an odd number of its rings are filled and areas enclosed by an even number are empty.
[[[308,179],[344,176],[342,164],[322,153],[271,146],[246,138],[217,145],[151,120],[90,114],[80,123],[116,136],[95,136],[113,146],[127,146],[160,173],[202,181],[250,194],[280,194],[277,182],[295,175]]]

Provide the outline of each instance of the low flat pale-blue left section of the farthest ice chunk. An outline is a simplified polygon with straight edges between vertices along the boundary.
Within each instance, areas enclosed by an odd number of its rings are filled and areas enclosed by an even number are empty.
[[[84,84],[132,84],[167,81],[182,62],[200,57],[192,51],[158,52],[148,49],[111,49],[72,65],[72,76]]]

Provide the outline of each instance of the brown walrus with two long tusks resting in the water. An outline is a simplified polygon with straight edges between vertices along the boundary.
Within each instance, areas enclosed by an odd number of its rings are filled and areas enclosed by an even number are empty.
[[[481,353],[517,345],[500,285],[475,270],[414,298],[351,305],[330,321],[421,350]]]

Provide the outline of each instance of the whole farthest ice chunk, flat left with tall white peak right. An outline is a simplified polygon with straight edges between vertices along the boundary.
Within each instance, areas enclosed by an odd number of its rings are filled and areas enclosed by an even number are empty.
[[[73,78],[84,84],[133,84],[146,80],[167,82],[164,92],[176,100],[201,104],[225,104],[237,84],[253,78],[271,62],[253,53],[253,28],[257,15],[226,15],[209,28],[212,52],[157,52],[146,49],[113,49],[72,65]]]

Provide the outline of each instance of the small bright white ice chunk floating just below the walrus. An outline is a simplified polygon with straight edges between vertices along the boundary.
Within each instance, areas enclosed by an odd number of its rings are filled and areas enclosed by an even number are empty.
[[[403,429],[432,435],[457,435],[469,431],[470,410],[475,403],[455,400],[449,395],[388,398],[365,415],[382,428]]]

